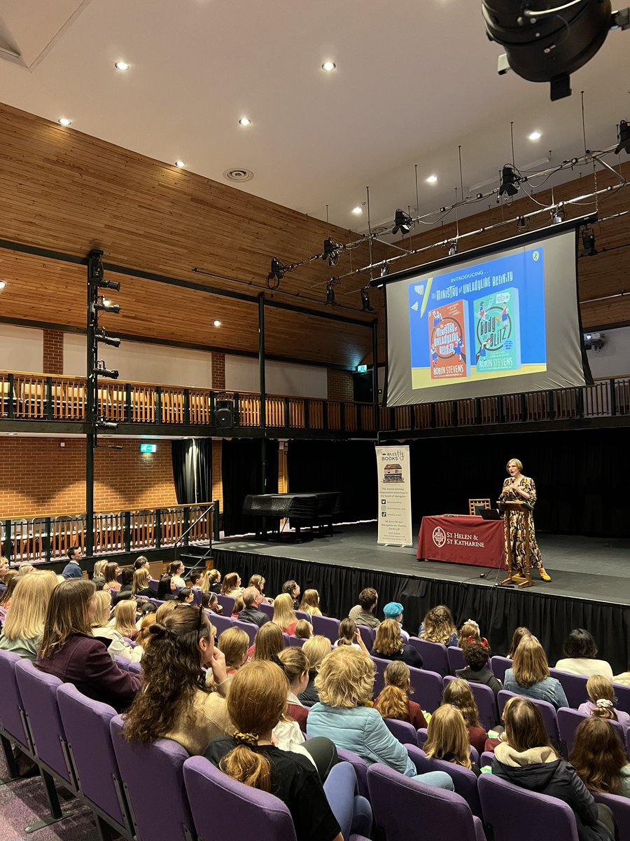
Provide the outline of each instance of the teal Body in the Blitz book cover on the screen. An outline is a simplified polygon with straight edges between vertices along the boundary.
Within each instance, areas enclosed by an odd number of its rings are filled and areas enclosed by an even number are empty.
[[[473,308],[477,372],[517,371],[521,367],[518,289],[509,287],[478,298]]]

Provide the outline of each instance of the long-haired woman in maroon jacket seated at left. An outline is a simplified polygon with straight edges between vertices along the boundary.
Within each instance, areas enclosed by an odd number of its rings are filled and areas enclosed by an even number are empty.
[[[94,701],[125,710],[140,688],[139,677],[119,669],[106,641],[92,636],[96,587],[87,579],[62,581],[50,597],[35,665],[71,683]]]

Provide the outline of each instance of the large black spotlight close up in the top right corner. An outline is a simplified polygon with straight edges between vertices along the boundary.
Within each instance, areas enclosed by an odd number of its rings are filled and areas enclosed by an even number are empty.
[[[630,26],[628,9],[613,13],[611,0],[482,0],[486,34],[505,48],[510,68],[529,82],[550,82],[552,100],[570,96],[570,74],[595,56],[614,26]]]

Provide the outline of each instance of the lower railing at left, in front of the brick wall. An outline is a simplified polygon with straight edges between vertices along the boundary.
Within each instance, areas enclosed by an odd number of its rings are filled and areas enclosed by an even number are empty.
[[[207,542],[215,519],[210,503],[177,505],[94,515],[95,556],[144,552],[176,545]],[[87,519],[60,514],[31,519],[3,517],[0,525],[3,554],[13,562],[55,561],[67,558],[71,546],[86,545]]]

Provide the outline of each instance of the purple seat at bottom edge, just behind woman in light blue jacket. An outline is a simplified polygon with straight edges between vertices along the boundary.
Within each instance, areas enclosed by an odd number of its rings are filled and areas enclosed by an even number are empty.
[[[368,785],[375,826],[388,841],[390,838],[392,841],[402,838],[486,841],[480,819],[454,791],[424,785],[381,764],[370,766]]]

